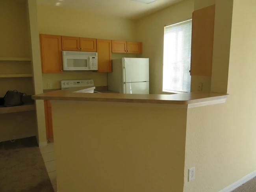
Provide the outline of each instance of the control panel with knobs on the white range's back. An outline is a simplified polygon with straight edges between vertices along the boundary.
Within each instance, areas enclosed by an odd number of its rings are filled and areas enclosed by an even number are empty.
[[[93,79],[79,79],[79,80],[62,80],[60,81],[61,89],[68,89],[73,87],[94,86]]]

